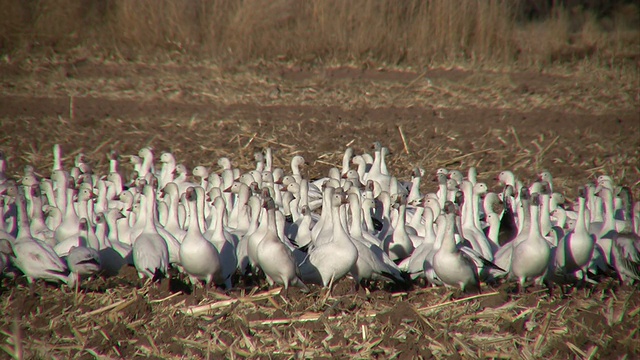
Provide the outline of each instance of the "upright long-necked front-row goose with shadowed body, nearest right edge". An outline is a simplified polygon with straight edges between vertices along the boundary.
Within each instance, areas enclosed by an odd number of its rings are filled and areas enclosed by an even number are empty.
[[[555,273],[556,275],[572,274],[580,271],[582,281],[587,279],[586,266],[591,261],[595,246],[595,236],[589,234],[587,224],[589,223],[589,212],[585,211],[586,190],[578,190],[578,221],[573,231],[567,233],[558,242],[555,251]]]

